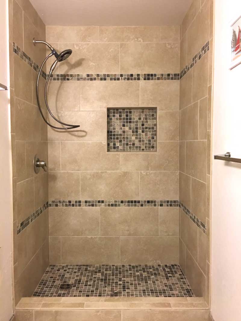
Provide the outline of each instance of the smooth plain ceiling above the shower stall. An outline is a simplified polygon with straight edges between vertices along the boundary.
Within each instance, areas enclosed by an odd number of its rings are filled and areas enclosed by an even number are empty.
[[[192,3],[192,0],[30,1],[48,26],[178,25]]]

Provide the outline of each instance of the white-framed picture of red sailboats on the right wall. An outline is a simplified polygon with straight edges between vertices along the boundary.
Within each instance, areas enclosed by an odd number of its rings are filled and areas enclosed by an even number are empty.
[[[241,63],[241,16],[230,22],[231,29],[231,64],[232,69]]]

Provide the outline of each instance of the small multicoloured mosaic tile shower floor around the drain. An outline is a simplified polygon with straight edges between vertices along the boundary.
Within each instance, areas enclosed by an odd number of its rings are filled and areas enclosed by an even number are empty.
[[[61,284],[69,289],[60,289]],[[194,297],[179,265],[49,265],[34,297]]]

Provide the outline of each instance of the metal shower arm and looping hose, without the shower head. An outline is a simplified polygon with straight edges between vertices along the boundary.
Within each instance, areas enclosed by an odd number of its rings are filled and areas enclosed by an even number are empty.
[[[37,42],[36,40],[34,40],[34,43]],[[45,43],[45,41],[38,41],[40,43]],[[47,44],[47,43],[46,43]],[[51,46],[48,44],[48,47],[50,48]],[[51,47],[52,48],[52,47]],[[74,129],[74,128],[77,128],[77,127],[80,127],[79,125],[69,125],[69,124],[65,124],[63,122],[61,122],[60,120],[58,120],[57,118],[54,117],[54,115],[52,114],[51,110],[49,109],[49,106],[48,106],[48,103],[47,103],[47,99],[46,99],[46,91],[47,91],[47,84],[48,84],[48,81],[46,82],[46,85],[45,85],[45,102],[46,102],[46,107],[48,108],[48,111],[50,113],[50,115],[60,124],[62,125],[65,125],[65,126],[69,126],[69,127],[56,127],[56,126],[53,126],[51,125],[44,117],[43,115],[43,112],[42,112],[42,109],[41,109],[41,106],[40,106],[40,100],[39,100],[39,78],[40,78],[40,74],[41,74],[41,71],[43,69],[43,66],[44,64],[46,63],[46,61],[54,55],[54,52],[52,51],[43,61],[40,69],[39,69],[39,74],[38,74],[38,77],[37,77],[37,85],[36,85],[36,92],[37,92],[37,102],[38,102],[38,106],[39,106],[39,110],[40,110],[40,114],[41,116],[43,117],[43,120],[45,121],[45,123],[47,125],[49,125],[50,127],[52,128],[55,128],[55,129],[61,129],[61,130],[66,130],[66,129]],[[54,63],[55,64],[55,63]],[[50,74],[49,74],[49,77],[50,75],[52,74],[52,70],[50,70]],[[49,80],[49,77],[48,77],[48,80]]]

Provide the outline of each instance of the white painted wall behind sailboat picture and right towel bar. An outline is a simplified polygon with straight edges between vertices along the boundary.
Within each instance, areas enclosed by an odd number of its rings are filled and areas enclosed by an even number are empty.
[[[216,0],[213,154],[241,158],[241,65],[228,69],[229,21],[241,15],[240,0]],[[240,26],[241,27],[241,26]],[[240,321],[241,164],[213,160],[211,314]]]

